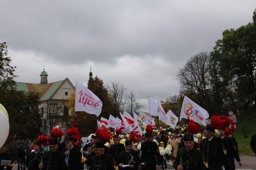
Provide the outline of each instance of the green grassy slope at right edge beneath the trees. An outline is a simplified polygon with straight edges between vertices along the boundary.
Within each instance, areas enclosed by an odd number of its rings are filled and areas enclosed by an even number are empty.
[[[238,143],[238,151],[240,155],[255,156],[250,147],[251,137],[256,134],[256,108],[251,109],[247,113],[240,113],[237,116],[237,129],[233,132],[233,137],[236,138]],[[248,138],[245,138],[244,133],[248,132]],[[247,129],[247,130],[246,130]]]

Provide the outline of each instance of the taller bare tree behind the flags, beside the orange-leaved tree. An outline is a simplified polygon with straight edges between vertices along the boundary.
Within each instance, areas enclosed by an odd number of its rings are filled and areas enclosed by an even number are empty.
[[[116,117],[119,115],[119,112],[123,112],[124,110],[124,106],[127,100],[127,89],[124,87],[124,85],[120,85],[119,83],[114,82],[111,82],[107,89],[110,93],[111,102],[114,107],[113,116]]]

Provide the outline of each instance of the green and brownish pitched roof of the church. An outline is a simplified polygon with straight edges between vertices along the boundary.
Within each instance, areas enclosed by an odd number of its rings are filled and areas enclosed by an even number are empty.
[[[40,101],[49,100],[60,86],[67,80],[60,80],[53,83],[21,83],[16,82],[16,89],[25,92],[32,92],[39,94]]]

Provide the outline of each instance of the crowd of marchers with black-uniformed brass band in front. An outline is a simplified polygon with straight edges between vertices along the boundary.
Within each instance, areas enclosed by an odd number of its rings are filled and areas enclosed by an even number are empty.
[[[255,136],[254,136],[255,137]],[[124,136],[126,138],[126,136]],[[120,135],[113,135],[113,143],[99,140],[91,135],[87,144],[76,144],[72,136],[26,141],[16,147],[18,170],[156,170],[167,169],[171,161],[175,170],[235,170],[235,160],[242,166],[235,138],[225,134],[225,127],[217,131],[206,125],[203,134],[190,135],[162,131],[160,134],[146,132],[138,143],[127,138],[121,142]],[[253,145],[253,143],[251,142]],[[170,153],[160,154],[159,148],[171,146]],[[5,152],[8,145],[0,148],[0,160],[11,160]],[[86,161],[82,159],[86,158]],[[0,170],[11,166],[1,165]]]

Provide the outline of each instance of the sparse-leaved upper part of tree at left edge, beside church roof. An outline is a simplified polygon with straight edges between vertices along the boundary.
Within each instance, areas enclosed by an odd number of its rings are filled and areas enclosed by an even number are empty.
[[[13,80],[17,75],[14,74],[15,67],[11,66],[11,58],[8,55],[5,42],[0,43],[0,90],[2,88],[13,88],[16,84]]]

